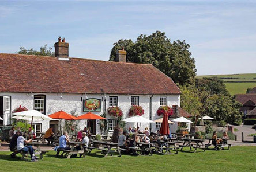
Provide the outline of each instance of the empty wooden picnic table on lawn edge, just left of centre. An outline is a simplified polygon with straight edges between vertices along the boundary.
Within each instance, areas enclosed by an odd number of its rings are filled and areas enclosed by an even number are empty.
[[[111,148],[115,148],[119,154],[119,156],[121,157],[121,151],[119,150],[119,147],[118,147],[118,143],[110,143],[110,142],[102,142],[102,141],[97,141],[97,140],[92,140],[92,142],[94,144],[100,144],[100,145],[103,145],[104,148],[100,148],[100,147],[88,147],[88,150],[90,150],[88,152],[88,154],[91,153],[91,151],[93,149],[97,149],[97,150],[101,150],[101,154],[105,154],[104,157],[107,157],[108,154],[110,154],[111,156],[113,152],[115,152],[115,150],[111,150]]]

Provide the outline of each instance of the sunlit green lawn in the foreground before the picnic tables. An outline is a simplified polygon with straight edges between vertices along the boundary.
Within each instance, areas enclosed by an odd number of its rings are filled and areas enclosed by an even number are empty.
[[[10,152],[0,152],[0,171],[255,171],[256,147],[231,147],[230,150],[206,150],[178,155],[85,158],[56,158],[50,151],[38,162],[11,159]]]

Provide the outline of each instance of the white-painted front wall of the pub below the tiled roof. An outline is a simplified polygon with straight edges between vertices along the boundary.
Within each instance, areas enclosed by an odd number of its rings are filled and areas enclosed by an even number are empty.
[[[69,114],[71,114],[72,111],[76,111],[76,114],[81,115],[85,114],[86,112],[82,112],[82,99],[85,99],[85,95],[82,94],[57,94],[57,93],[37,93],[46,95],[46,115],[50,115],[54,112],[63,110]],[[33,94],[36,95],[36,94]],[[25,106],[29,110],[33,109],[33,97],[31,93],[0,93],[0,96],[11,96],[11,111],[14,110],[14,108],[17,108],[18,106]],[[61,99],[62,96],[62,99]],[[88,98],[96,98],[96,99],[102,99],[104,95],[86,95]],[[139,96],[139,104],[144,108],[144,117],[149,119],[150,115],[150,99],[149,96],[152,95],[106,95],[106,110],[108,108],[108,100],[109,96],[118,96],[118,106],[123,111],[123,119],[128,118],[129,109],[131,107],[131,96]],[[165,96],[167,97],[167,105],[180,105],[180,96],[179,95],[153,95],[152,97],[152,120],[156,120],[157,118],[160,118],[161,116],[158,116],[156,114],[157,109],[160,107],[160,97]],[[101,112],[93,112],[97,115],[100,115],[103,113],[104,110],[104,101],[101,101]],[[107,118],[112,118],[112,116],[109,116],[107,114]],[[41,122],[36,122],[41,123]],[[85,120],[81,120],[79,123],[79,128],[84,128],[86,125]],[[137,126],[135,123],[128,123],[126,127],[133,127]],[[139,124],[140,126],[140,124]],[[142,124],[142,130],[144,130],[145,127],[149,127],[149,123]],[[46,131],[49,127],[49,122],[42,122],[42,131]],[[171,128],[174,128],[173,130],[176,131],[176,126],[170,126]],[[152,132],[156,132],[158,129],[155,128],[155,123],[152,124]],[[171,131],[171,132],[175,132]],[[97,133],[100,133],[99,125],[97,125]]]

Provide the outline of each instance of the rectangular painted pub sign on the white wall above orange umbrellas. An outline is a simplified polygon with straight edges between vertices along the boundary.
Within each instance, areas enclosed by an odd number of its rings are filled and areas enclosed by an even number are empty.
[[[101,99],[86,99],[82,101],[84,112],[101,111]]]

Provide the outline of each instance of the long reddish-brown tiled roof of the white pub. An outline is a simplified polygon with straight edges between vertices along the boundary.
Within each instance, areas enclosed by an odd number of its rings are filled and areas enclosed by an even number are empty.
[[[0,92],[180,94],[150,64],[0,53]]]

